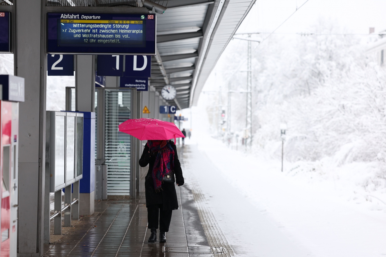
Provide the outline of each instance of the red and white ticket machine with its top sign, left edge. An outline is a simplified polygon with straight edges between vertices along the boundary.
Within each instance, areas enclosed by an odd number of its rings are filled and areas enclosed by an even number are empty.
[[[19,102],[24,102],[24,78],[0,75],[0,92],[0,257],[16,257]]]

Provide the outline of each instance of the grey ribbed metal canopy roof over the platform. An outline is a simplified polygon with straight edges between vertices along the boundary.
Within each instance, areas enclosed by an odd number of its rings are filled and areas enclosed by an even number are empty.
[[[46,0],[51,6],[142,7],[142,0]],[[157,55],[150,86],[171,84],[179,109],[196,105],[202,87],[256,0],[151,0],[167,7],[157,15]],[[4,0],[0,0],[4,2]],[[13,2],[13,0],[10,0]]]

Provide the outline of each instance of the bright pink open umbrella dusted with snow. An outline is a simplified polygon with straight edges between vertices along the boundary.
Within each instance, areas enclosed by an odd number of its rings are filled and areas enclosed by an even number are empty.
[[[185,138],[174,123],[159,119],[128,119],[119,124],[119,131],[132,135],[139,140],[169,140]]]

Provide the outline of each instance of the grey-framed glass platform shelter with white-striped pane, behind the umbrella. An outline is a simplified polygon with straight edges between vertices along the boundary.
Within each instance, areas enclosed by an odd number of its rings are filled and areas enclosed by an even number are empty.
[[[69,109],[75,106],[74,91],[72,87],[66,89]],[[119,132],[118,125],[136,117],[136,92],[127,88],[95,88],[95,156],[96,164],[107,165],[108,198],[129,196],[135,190],[137,156],[132,153],[135,154],[136,139]]]

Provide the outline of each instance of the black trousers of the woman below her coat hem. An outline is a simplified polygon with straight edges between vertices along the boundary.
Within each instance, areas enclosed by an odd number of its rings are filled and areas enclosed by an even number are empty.
[[[163,210],[162,204],[149,205],[147,207],[147,225],[148,228],[158,228],[159,214],[159,231],[169,232],[172,210]]]

